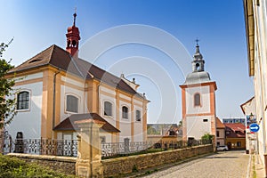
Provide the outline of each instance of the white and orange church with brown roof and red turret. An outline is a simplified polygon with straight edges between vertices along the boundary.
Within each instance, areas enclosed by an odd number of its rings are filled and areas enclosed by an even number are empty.
[[[17,115],[5,131],[15,139],[77,139],[76,121],[104,122],[101,142],[145,142],[147,104],[135,80],[116,77],[78,56],[80,33],[74,22],[66,49],[53,44],[9,71],[15,76]]]

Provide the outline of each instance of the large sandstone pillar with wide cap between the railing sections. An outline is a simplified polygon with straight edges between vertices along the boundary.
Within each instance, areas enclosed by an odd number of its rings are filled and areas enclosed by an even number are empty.
[[[80,128],[76,174],[82,177],[103,177],[99,132],[104,123],[85,119],[77,121],[75,124]]]

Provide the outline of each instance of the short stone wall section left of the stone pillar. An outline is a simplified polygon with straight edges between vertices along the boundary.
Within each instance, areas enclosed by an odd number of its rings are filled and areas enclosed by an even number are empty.
[[[20,153],[10,153],[8,156],[20,158],[26,162],[36,163],[37,165],[46,166],[54,171],[63,174],[75,174],[76,159],[73,157],[58,157],[49,155],[30,155]]]

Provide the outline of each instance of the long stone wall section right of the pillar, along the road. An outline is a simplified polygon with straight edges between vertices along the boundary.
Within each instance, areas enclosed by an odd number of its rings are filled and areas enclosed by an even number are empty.
[[[110,158],[101,160],[105,177],[117,174],[132,173],[133,168],[141,170],[153,166],[179,161],[183,158],[191,158],[198,155],[213,152],[211,144],[190,147],[187,149],[167,150],[157,153],[149,153],[125,158]]]

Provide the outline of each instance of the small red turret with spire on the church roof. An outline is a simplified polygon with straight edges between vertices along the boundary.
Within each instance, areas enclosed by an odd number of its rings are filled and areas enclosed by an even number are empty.
[[[81,39],[79,28],[76,27],[76,17],[77,13],[75,12],[73,14],[73,25],[72,27],[68,28],[68,33],[66,34],[67,36],[66,51],[69,52],[69,54],[74,58],[78,57],[79,40]]]

